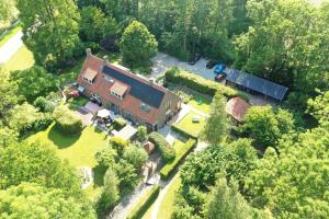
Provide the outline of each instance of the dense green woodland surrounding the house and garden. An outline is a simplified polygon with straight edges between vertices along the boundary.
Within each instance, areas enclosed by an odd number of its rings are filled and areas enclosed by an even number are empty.
[[[251,107],[234,137],[226,100],[214,96],[211,146],[182,165],[173,218],[329,217],[329,1],[0,0],[0,21],[15,19],[35,65],[0,68],[0,216],[97,218],[137,184],[146,155],[129,148],[116,166],[126,178],[106,172],[109,193],[92,205],[70,165],[26,140],[60,117],[57,77],[91,48],[145,72],[158,50],[184,61],[201,54],[288,88],[279,106]],[[137,168],[127,163],[136,153]]]

